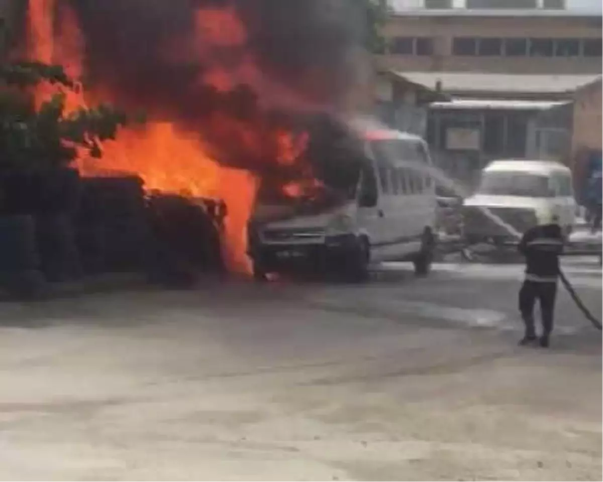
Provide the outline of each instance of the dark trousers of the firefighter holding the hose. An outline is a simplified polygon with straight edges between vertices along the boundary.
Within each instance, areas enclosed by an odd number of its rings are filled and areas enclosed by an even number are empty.
[[[542,336],[548,338],[553,331],[555,299],[557,298],[557,283],[555,281],[530,281],[523,282],[519,292],[519,310],[525,323],[526,338],[536,337],[534,325],[534,305],[540,302],[542,316]]]

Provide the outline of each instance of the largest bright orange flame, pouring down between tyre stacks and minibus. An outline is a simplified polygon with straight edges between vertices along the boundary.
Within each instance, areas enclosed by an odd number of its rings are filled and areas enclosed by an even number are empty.
[[[101,160],[82,159],[78,167],[89,176],[103,175],[101,169],[134,172],[148,190],[223,199],[228,208],[227,259],[232,270],[247,272],[245,240],[256,180],[247,172],[224,169],[205,152],[197,135],[166,122],[122,130],[116,140],[103,143]]]

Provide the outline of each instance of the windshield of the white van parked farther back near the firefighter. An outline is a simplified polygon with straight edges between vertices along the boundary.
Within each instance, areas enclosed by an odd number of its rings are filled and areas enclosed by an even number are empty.
[[[548,176],[526,172],[484,172],[478,193],[526,198],[549,198]]]

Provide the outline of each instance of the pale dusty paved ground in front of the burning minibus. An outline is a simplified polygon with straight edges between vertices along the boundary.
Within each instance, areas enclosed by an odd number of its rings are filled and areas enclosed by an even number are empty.
[[[563,293],[516,346],[520,266],[3,305],[11,482],[600,480],[603,334]],[[567,262],[603,314],[603,271]]]

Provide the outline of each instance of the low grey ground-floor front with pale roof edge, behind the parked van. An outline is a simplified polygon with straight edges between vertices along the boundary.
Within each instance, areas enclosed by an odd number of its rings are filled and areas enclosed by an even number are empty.
[[[566,161],[572,101],[460,99],[431,105],[426,139],[435,161],[467,189],[494,159]]]

